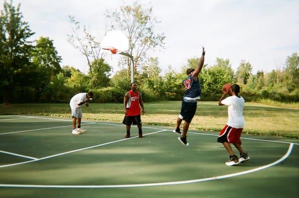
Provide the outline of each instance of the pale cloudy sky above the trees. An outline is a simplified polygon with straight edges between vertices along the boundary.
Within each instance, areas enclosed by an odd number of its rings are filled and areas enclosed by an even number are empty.
[[[135,0],[13,0],[21,3],[23,20],[35,34],[53,40],[61,66],[70,65],[88,71],[86,58],[67,42],[72,33],[69,15],[75,16],[99,41],[108,21],[106,10],[132,5]],[[0,0],[3,8],[4,0]],[[187,59],[201,56],[206,49],[205,64],[216,64],[216,58],[229,59],[234,71],[242,60],[252,65],[252,72],[283,69],[288,56],[299,53],[299,0],[139,0],[152,7],[160,23],[156,33],[164,33],[165,49],[151,51],[158,57],[162,73],[170,65],[179,72]],[[119,70],[120,55],[106,56]]]

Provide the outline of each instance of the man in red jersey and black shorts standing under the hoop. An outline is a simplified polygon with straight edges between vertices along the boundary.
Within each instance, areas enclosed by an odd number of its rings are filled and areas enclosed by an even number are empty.
[[[140,106],[142,108],[142,114],[145,113],[145,108],[143,105],[142,95],[137,91],[137,84],[132,82],[130,84],[131,90],[125,94],[124,97],[124,108],[125,108],[125,118],[123,124],[126,125],[127,135],[125,138],[130,138],[131,125],[137,125],[139,138],[142,138],[142,123],[140,117]],[[139,106],[140,105],[140,106]]]

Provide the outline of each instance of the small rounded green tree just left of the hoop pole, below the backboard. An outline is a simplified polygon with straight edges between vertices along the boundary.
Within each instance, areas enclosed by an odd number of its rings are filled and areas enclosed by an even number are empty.
[[[91,63],[91,70],[89,72],[89,78],[91,88],[107,87],[109,84],[109,76],[111,66],[105,62],[103,58],[96,59]]]

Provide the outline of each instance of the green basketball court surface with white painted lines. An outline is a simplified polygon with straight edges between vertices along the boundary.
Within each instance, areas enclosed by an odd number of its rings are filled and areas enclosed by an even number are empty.
[[[217,132],[189,131],[185,147],[170,128],[0,116],[0,198],[294,198],[299,140],[243,135],[250,160],[228,167]],[[235,150],[236,151],[236,150]]]

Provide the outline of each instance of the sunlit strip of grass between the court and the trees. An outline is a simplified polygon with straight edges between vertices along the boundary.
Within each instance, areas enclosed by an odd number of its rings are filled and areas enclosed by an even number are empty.
[[[146,103],[144,124],[174,127],[180,111],[180,101]],[[70,118],[68,104],[11,104],[0,107],[0,114],[29,114]],[[285,108],[258,103],[245,103],[244,133],[299,138],[299,109]],[[122,104],[93,104],[83,107],[83,118],[97,121],[122,122]],[[198,102],[197,112],[190,125],[191,129],[220,131],[227,121],[227,107],[217,102]]]

